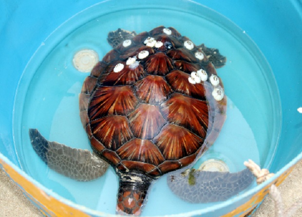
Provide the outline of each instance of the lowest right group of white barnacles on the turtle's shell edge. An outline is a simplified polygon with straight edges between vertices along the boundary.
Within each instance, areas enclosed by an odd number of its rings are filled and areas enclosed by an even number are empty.
[[[191,84],[199,84],[202,81],[208,80],[208,73],[203,69],[200,69],[197,72],[191,72],[191,76],[189,76],[188,80]],[[212,96],[214,97],[214,99],[217,101],[222,100],[224,98],[225,93],[223,88],[219,85],[219,77],[217,75],[212,74],[209,77],[209,81],[214,88],[212,91]]]

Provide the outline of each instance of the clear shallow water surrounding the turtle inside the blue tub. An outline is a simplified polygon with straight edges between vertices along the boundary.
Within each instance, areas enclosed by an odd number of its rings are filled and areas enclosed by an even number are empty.
[[[28,129],[38,128],[50,141],[91,150],[78,111],[78,93],[88,73],[74,68],[74,54],[92,49],[102,58],[111,50],[106,40],[108,32],[122,28],[140,33],[159,25],[172,26],[195,44],[219,48],[227,56],[226,66],[217,70],[228,97],[227,121],[215,144],[195,167],[212,158],[227,163],[231,172],[244,169],[243,162],[248,159],[269,166],[278,142],[281,109],[264,57],[245,32],[226,18],[190,1],[165,7],[173,5],[170,3],[165,1],[160,7],[135,4],[127,10],[120,10],[114,1],[97,4],[62,24],[41,44],[23,73],[14,114],[16,151],[26,173],[80,205],[115,213],[118,184],[112,168],[90,182],[63,177],[38,158]],[[177,214],[209,205],[178,199],[164,176],[153,184],[143,215]]]

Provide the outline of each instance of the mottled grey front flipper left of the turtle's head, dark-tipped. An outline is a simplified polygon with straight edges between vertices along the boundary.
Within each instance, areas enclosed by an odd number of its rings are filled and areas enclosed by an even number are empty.
[[[71,148],[47,141],[38,129],[29,129],[31,144],[38,156],[56,172],[78,181],[91,181],[101,177],[108,163],[89,150]]]

